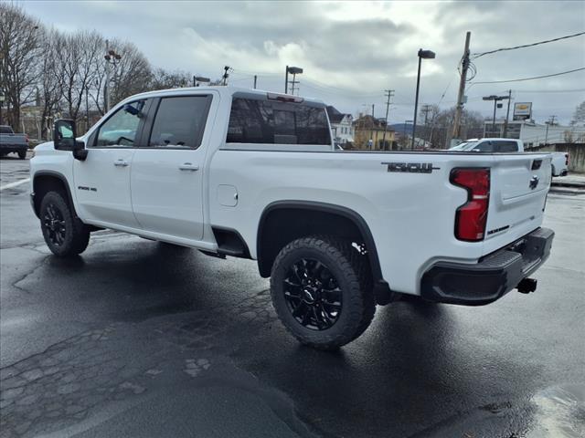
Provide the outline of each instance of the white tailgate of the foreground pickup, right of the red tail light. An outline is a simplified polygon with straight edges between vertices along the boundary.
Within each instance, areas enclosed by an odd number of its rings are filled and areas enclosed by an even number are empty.
[[[484,254],[527,235],[542,224],[550,187],[548,153],[495,154]]]

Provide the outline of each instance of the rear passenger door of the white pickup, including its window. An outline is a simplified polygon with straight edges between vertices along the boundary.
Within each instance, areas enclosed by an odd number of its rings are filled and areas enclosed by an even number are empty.
[[[133,212],[144,230],[202,239],[211,101],[209,93],[154,99],[131,172]]]

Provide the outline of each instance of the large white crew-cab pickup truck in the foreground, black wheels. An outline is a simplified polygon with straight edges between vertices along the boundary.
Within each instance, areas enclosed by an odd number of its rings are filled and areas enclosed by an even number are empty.
[[[403,294],[476,306],[533,291],[554,236],[548,153],[335,151],[314,99],[154,91],[75,131],[58,120],[30,161],[55,255],[111,228],[257,260],[284,326],[318,349]]]

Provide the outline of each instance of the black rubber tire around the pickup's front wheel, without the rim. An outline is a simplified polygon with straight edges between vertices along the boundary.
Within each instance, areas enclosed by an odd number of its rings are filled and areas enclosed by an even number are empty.
[[[56,212],[56,214],[60,215],[61,222],[64,223],[63,238],[60,243],[56,242],[55,238],[51,238],[51,230],[47,224],[48,217],[50,216],[48,210],[51,208],[53,209],[53,213]],[[88,247],[90,243],[90,228],[73,214],[71,206],[61,193],[48,192],[45,194],[40,203],[39,215],[43,237],[48,245],[48,249],[54,255],[58,257],[79,255]]]

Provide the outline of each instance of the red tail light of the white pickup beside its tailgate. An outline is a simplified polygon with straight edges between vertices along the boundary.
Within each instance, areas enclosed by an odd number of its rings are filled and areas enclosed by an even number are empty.
[[[484,240],[490,203],[490,170],[479,167],[453,169],[449,181],[467,191],[467,202],[455,213],[455,237],[465,242]]]

